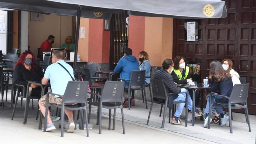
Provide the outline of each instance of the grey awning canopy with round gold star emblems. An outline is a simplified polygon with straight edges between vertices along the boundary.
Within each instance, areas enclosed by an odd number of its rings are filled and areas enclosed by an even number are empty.
[[[37,13],[54,13],[81,17],[110,19],[112,13],[149,17],[223,18],[227,16],[221,0],[0,0],[0,7]]]

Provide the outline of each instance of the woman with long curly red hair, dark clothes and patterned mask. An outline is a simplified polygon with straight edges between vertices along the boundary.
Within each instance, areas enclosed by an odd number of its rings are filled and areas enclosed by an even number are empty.
[[[15,65],[13,72],[13,79],[15,84],[24,85],[25,88],[28,84],[27,81],[41,81],[43,78],[42,71],[35,61],[35,56],[31,51],[24,51]],[[41,89],[38,85],[31,84],[32,94],[41,95]],[[20,90],[23,92],[23,90]],[[26,91],[25,91],[26,93]]]

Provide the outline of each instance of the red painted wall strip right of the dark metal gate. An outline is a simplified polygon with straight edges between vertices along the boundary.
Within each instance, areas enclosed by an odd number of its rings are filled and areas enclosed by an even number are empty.
[[[145,46],[145,17],[129,16],[129,42],[128,47],[132,49],[132,55],[138,59],[138,53]]]

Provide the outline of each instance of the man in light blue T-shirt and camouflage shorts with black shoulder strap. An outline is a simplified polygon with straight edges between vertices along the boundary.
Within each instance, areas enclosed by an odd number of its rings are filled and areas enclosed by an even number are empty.
[[[64,61],[64,58],[65,54],[62,51],[54,51],[51,60],[52,64],[47,67],[47,69],[45,70],[45,75],[42,79],[43,85],[47,85],[48,81],[50,80],[52,93],[58,95],[64,95],[68,81],[72,81],[72,78],[74,79],[73,68]],[[71,76],[60,64],[67,69]],[[49,102],[52,104],[61,105],[62,98],[54,95],[49,95]],[[45,116],[46,95],[42,96],[38,104],[40,106],[42,114]],[[75,124],[73,121],[73,111],[65,109],[64,112],[67,115],[69,122],[67,132],[74,132]],[[54,129],[56,128],[52,123],[50,111],[48,111],[46,131],[51,131]]]

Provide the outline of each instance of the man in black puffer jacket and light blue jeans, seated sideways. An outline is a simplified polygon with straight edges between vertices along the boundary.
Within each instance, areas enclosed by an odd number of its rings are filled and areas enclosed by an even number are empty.
[[[163,80],[163,83],[165,85],[167,93],[175,93],[173,95],[173,102],[185,101],[186,94],[178,94],[182,91],[182,89],[178,88],[176,86],[176,84],[174,83],[174,80],[173,80],[173,76],[170,74],[173,71],[173,61],[169,58],[166,58],[163,61],[162,67],[163,67],[162,70],[158,70],[154,74],[154,79]],[[185,103],[177,104],[177,109],[175,111],[174,118],[172,120],[173,124],[183,124],[184,123],[179,118],[180,115],[182,114],[184,106],[185,106]]]

